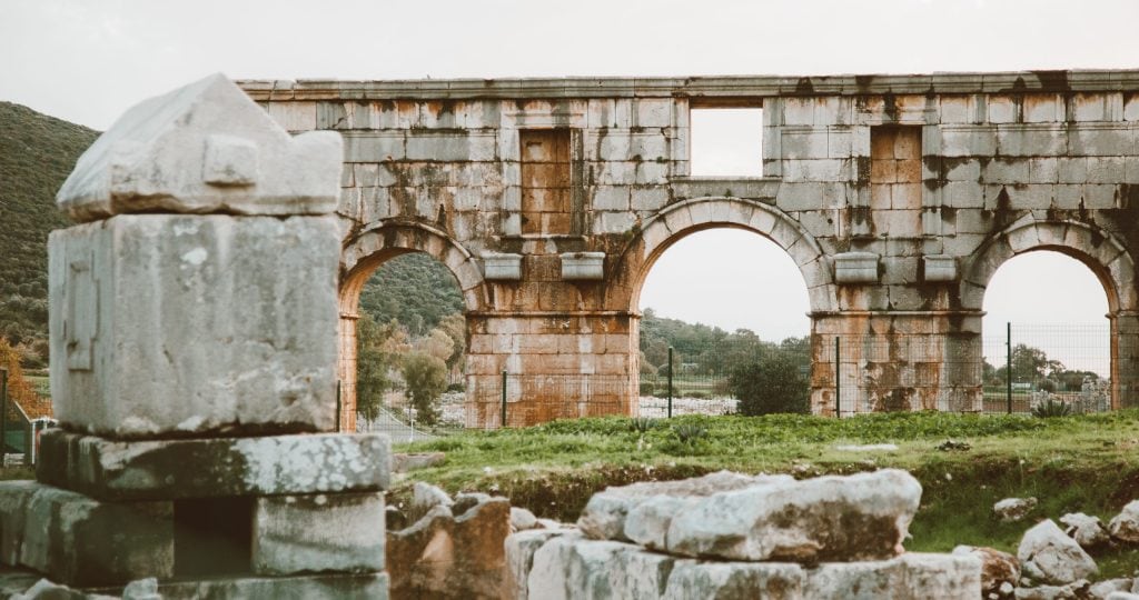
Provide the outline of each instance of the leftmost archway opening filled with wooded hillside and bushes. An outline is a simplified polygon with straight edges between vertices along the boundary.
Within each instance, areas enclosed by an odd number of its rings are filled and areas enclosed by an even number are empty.
[[[467,326],[458,280],[423,252],[368,268],[355,273],[362,285],[343,291],[355,294],[357,306],[354,406],[345,408],[355,417],[354,429],[404,442],[461,427]]]

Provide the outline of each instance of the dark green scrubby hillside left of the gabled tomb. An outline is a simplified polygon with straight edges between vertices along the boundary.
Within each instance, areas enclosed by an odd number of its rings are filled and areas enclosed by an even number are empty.
[[[68,224],[56,190],[98,135],[0,102],[0,335],[13,345],[47,338],[48,232]]]

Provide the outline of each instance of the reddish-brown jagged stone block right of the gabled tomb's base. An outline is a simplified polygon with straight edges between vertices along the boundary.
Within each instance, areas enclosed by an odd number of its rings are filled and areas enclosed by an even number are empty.
[[[452,512],[453,510],[453,512]],[[403,531],[387,533],[386,566],[396,598],[501,598],[510,502],[459,494]]]

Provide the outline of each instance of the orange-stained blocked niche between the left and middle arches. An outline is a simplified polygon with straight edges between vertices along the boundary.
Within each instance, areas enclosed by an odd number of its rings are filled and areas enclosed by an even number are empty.
[[[570,141],[568,129],[518,132],[524,235],[564,236],[573,230]]]

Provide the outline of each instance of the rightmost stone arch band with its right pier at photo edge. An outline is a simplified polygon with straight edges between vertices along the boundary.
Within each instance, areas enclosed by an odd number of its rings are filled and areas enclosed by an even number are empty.
[[[1126,246],[1095,224],[1038,220],[1027,215],[994,233],[974,253],[961,278],[962,307],[980,312],[985,289],[1002,264],[1021,254],[1054,250],[1071,256],[1099,279],[1111,323],[1111,380],[1114,409],[1139,404],[1139,290],[1136,263]]]

